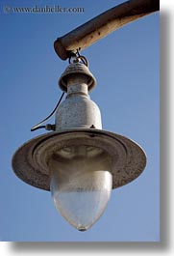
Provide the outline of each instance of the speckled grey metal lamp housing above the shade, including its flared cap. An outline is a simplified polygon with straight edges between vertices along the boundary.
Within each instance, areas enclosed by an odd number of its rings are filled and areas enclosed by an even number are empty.
[[[56,130],[102,128],[100,109],[88,96],[95,78],[87,66],[70,64],[62,73],[59,83],[62,90],[67,91],[67,97],[56,111]]]

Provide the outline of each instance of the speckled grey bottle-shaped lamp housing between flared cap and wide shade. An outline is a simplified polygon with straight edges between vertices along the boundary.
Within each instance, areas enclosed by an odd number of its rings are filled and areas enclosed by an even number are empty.
[[[90,100],[87,88],[87,74],[69,75],[66,100],[56,111],[56,130],[102,128],[100,109]]]

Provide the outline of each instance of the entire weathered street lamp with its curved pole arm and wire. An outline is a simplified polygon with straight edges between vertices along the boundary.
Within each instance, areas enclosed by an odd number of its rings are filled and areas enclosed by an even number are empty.
[[[146,165],[137,143],[102,129],[100,109],[88,96],[96,80],[79,50],[158,10],[159,1],[128,1],[59,38],[55,50],[62,60],[69,58],[59,80],[66,99],[61,103],[61,97],[51,113],[56,112],[54,125],[40,122],[32,128],[52,131],[26,142],[12,156],[16,176],[51,190],[58,211],[79,231],[86,231],[104,213],[112,188],[135,180]]]

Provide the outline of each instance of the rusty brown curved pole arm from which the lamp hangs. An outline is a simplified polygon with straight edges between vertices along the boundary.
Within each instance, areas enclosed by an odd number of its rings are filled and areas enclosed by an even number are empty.
[[[123,25],[159,10],[160,0],[127,1],[58,38],[54,43],[55,51],[66,60],[77,49],[85,49]]]

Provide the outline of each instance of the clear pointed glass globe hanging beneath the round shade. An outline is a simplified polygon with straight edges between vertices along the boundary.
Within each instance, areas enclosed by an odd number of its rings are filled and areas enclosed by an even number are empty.
[[[64,147],[49,167],[57,210],[73,227],[86,231],[105,211],[111,196],[110,156],[91,146]]]

